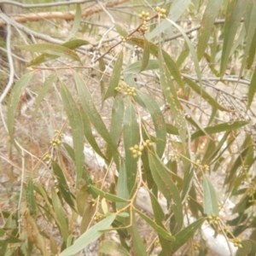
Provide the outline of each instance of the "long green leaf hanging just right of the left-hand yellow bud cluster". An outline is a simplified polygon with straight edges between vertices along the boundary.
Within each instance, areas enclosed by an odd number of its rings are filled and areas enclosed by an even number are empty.
[[[73,99],[73,96],[67,90],[67,86],[60,81],[61,98],[72,128],[73,151],[75,155],[75,165],[77,171],[76,185],[83,175],[84,170],[84,127],[83,119],[79,112],[79,108]]]

